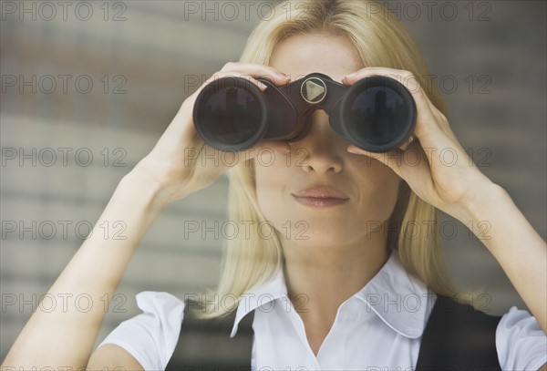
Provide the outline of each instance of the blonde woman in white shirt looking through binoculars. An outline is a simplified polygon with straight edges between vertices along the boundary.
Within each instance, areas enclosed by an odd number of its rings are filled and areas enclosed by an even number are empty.
[[[507,192],[469,166],[440,99],[420,88],[427,71],[406,31],[382,12],[367,12],[364,1],[288,5],[291,17],[284,10],[263,21],[240,63],[226,64],[208,82],[246,77],[261,88],[257,78],[267,77],[282,86],[311,72],[346,86],[372,75],[410,81],[418,108],[415,139],[389,153],[366,152],[338,137],[325,112],[315,111],[303,139],[262,142],[224,156],[233,161],[206,166],[201,155],[212,149],[204,147],[191,119],[198,90],[184,101],[157,146],[121,180],[97,223],[125,221],[127,240],[100,241],[100,233],[92,233],[49,294],[111,297],[161,209],[208,186],[228,170],[225,164],[233,163],[229,219],[253,222],[252,227],[271,222],[276,235],[264,239],[250,228],[250,234],[240,233],[229,242],[217,293],[241,301],[201,316],[232,312],[236,333],[243,316],[253,312],[256,369],[416,366],[431,305],[390,310],[377,298],[457,296],[434,236],[409,238],[401,232],[409,222],[435,222],[436,209],[461,222],[490,222],[486,247],[532,311],[533,316],[511,308],[497,323],[491,345],[499,366],[547,369],[545,242]],[[278,6],[286,9],[287,4]],[[185,149],[202,151],[190,158]],[[272,156],[272,150],[261,149],[273,149],[274,161],[261,159],[264,153]],[[424,149],[450,149],[458,160],[449,167]],[[418,156],[412,163],[405,157],[410,152]],[[302,238],[296,238],[297,231]],[[255,300],[261,294],[271,300]],[[93,354],[102,308],[36,311],[5,366],[163,369],[178,343],[184,304],[160,293],[142,293],[138,300],[145,313],[120,325]]]

